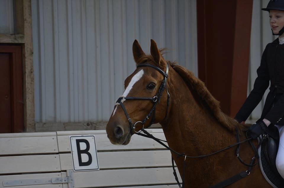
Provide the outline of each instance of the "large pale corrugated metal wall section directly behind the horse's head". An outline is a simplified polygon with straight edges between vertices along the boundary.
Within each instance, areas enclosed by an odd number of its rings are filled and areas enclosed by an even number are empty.
[[[196,0],[32,0],[35,121],[107,121],[150,39],[197,75]]]

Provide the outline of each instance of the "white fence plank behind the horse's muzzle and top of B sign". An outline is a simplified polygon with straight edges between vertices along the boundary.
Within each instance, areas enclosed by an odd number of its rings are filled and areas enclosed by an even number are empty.
[[[90,133],[91,134],[91,133]],[[164,133],[153,133],[156,138],[165,140]],[[69,136],[57,136],[58,149],[60,152],[70,152]],[[138,136],[134,134],[128,145],[114,145],[109,141],[106,134],[96,135],[96,146],[98,151],[108,150],[133,150],[133,149],[164,149],[164,146],[154,141],[151,138]]]

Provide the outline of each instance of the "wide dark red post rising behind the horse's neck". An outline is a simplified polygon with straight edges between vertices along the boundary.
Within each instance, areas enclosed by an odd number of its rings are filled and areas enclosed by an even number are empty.
[[[198,0],[198,74],[235,116],[247,96],[252,0]]]

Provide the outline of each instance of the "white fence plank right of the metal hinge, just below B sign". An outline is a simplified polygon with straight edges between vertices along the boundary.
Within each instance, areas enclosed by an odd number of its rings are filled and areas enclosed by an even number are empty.
[[[75,188],[176,184],[172,172],[170,167],[82,171],[74,172],[74,181]]]

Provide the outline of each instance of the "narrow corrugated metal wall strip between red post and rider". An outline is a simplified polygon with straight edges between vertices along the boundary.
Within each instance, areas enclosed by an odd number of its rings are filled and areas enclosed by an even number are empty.
[[[269,0],[254,0],[253,4],[248,92],[253,89],[253,84],[257,77],[256,69],[260,65],[262,52],[269,42],[277,38],[277,36],[272,35],[270,29],[269,13],[261,10],[261,8],[266,8],[268,2]],[[268,91],[267,89],[262,101],[251,113],[250,119],[260,118]]]

